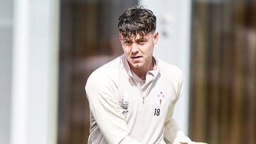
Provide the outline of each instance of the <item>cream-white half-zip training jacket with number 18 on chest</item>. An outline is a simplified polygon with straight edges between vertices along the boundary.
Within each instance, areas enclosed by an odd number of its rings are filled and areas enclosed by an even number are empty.
[[[88,144],[175,143],[178,127],[172,115],[182,89],[181,70],[159,59],[154,58],[154,70],[144,81],[124,55],[108,62],[92,72],[85,86],[91,113]]]

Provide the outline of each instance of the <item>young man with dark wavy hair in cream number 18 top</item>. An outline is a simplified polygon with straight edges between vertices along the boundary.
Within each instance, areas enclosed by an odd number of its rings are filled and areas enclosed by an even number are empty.
[[[118,28],[124,55],[92,72],[85,86],[88,143],[193,143],[172,118],[183,88],[181,70],[153,57],[156,16],[143,7],[128,9]]]

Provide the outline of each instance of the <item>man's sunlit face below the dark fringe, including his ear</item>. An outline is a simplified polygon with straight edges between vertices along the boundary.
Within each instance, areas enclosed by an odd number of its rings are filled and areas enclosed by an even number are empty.
[[[124,55],[132,70],[142,71],[149,69],[152,64],[154,45],[159,39],[157,32],[134,35],[132,38],[123,38],[119,35]]]

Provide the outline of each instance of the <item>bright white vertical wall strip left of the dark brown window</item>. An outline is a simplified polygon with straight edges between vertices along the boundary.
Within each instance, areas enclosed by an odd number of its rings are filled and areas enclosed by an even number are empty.
[[[11,144],[57,135],[58,0],[14,0]]]

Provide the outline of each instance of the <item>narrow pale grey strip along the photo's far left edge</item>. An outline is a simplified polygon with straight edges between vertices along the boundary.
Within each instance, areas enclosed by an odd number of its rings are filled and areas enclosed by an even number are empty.
[[[0,143],[9,143],[13,1],[0,0]]]

